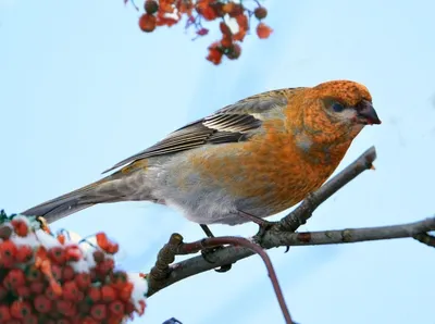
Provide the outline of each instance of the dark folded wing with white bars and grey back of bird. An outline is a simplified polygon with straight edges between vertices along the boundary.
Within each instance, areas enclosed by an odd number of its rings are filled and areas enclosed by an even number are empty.
[[[285,107],[286,94],[294,89],[268,91],[224,107],[210,116],[171,133],[156,145],[116,163],[103,173],[141,159],[190,150],[206,144],[219,145],[246,140],[253,129],[261,126],[262,122],[258,116],[274,108]]]

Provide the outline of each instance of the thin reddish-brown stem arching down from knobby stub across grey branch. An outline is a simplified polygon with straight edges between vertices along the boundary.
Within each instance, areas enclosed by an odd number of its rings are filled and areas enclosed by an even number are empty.
[[[232,245],[234,247],[245,247],[252,252],[258,253],[263,260],[269,277],[271,278],[272,286],[275,290],[276,298],[278,300],[281,310],[283,312],[286,323],[293,324],[290,313],[288,311],[287,304],[284,299],[283,291],[281,289],[278,278],[276,276],[275,270],[272,265],[271,259],[268,253],[258,245],[252,241],[235,236],[224,236],[224,237],[210,237],[204,238],[194,242],[183,242],[183,236],[175,233],[171,236],[169,242],[160,250],[156,265],[150,272],[148,278],[148,284],[150,286],[148,297],[151,296],[159,286],[164,285],[164,277],[171,272],[170,264],[173,262],[175,256],[191,254],[199,252],[206,248],[222,247],[223,245]],[[152,290],[153,289],[153,290]]]

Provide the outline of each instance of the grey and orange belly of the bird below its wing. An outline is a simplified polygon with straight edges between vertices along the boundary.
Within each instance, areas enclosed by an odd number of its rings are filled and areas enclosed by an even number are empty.
[[[164,185],[153,195],[192,222],[239,224],[246,220],[236,215],[237,210],[259,217],[278,213],[301,201],[331,174],[295,153],[270,153],[226,145],[225,151],[214,146],[178,157],[160,172]]]

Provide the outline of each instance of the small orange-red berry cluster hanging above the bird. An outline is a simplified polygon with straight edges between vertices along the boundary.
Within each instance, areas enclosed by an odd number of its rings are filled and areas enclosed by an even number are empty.
[[[139,18],[139,27],[146,33],[151,33],[158,26],[172,26],[187,16],[186,28],[194,26],[197,36],[209,34],[202,26],[202,21],[221,20],[220,29],[222,38],[209,47],[207,60],[220,64],[223,57],[235,60],[240,57],[240,42],[250,29],[250,20],[258,20],[257,35],[268,38],[272,29],[262,23],[268,11],[254,1],[256,8],[248,9],[241,1],[231,0],[146,0],[145,13]],[[231,28],[231,26],[234,26]],[[236,29],[236,30],[233,30]]]

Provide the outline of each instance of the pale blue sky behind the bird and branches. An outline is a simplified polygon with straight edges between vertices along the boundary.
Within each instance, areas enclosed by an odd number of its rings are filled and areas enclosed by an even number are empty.
[[[269,89],[347,78],[365,84],[383,121],[339,169],[374,145],[365,172],[315,212],[304,230],[388,225],[432,215],[435,161],[435,2],[266,1],[269,40],[246,39],[238,61],[203,58],[216,38],[182,26],[151,35],[122,0],[0,0],[0,208],[20,212],[99,178],[167,133]],[[138,2],[139,4],[139,2]],[[276,219],[276,217],[274,217]],[[173,232],[202,233],[150,203],[98,205],[53,224],[104,230],[147,272]],[[254,225],[213,226],[250,236]],[[435,258],[412,239],[270,251],[301,324],[435,323]],[[209,272],[148,300],[135,323],[284,323],[259,257]]]

